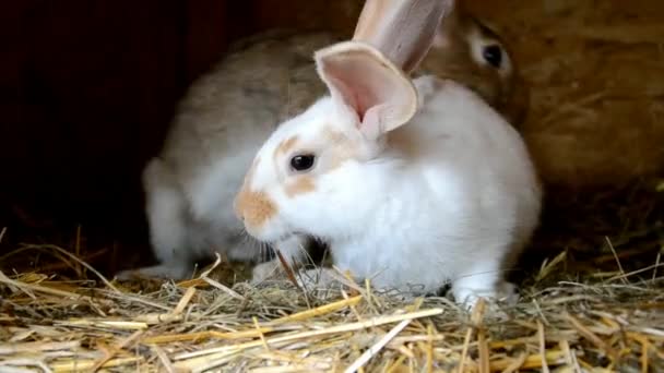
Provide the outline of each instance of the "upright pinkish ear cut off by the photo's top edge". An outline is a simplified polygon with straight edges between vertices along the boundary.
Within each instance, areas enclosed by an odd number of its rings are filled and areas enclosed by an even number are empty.
[[[442,19],[459,0],[366,0],[353,40],[368,43],[406,74],[434,44]]]

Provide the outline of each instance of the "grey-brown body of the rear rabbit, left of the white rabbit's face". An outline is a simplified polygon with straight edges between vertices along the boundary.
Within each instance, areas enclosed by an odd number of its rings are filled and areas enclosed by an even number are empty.
[[[242,233],[233,213],[233,197],[280,120],[324,92],[310,56],[337,37],[278,31],[254,37],[241,40],[238,47],[249,46],[224,57],[178,103],[163,148],[143,172],[158,264],[121,272],[119,278],[180,279],[193,273],[197,260],[214,258],[214,252],[260,258],[258,242]]]

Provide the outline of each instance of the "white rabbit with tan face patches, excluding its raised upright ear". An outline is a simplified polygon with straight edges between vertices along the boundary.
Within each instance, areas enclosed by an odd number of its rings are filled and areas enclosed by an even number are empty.
[[[427,293],[451,281],[466,305],[512,296],[505,270],[541,209],[529,152],[470,88],[404,73],[413,68],[404,61],[426,55],[427,33],[394,35],[387,46],[342,41],[316,52],[329,96],[262,145],[236,213],[247,232],[285,256],[300,255],[285,242],[320,238],[335,266],[375,287]]]

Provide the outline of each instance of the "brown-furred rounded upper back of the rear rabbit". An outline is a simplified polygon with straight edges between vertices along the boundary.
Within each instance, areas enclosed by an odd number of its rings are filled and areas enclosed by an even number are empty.
[[[334,40],[327,33],[296,35],[278,29],[233,44],[178,103],[162,156],[197,165],[205,159],[195,155],[232,154],[247,143],[246,136],[269,131],[311,104],[324,92],[310,68],[311,51]],[[305,91],[309,92],[301,94]]]

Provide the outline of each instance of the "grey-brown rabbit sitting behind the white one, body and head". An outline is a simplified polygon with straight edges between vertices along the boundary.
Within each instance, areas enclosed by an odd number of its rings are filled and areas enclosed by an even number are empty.
[[[520,84],[508,48],[454,1],[448,2],[450,12],[436,29],[436,43],[420,71],[467,85],[517,124],[527,107],[527,89]],[[372,4],[367,1],[367,9]],[[365,16],[364,22],[378,16]],[[213,257],[214,251],[233,260],[261,256],[265,246],[242,236],[233,197],[278,122],[324,94],[311,56],[337,40],[330,33],[269,32],[237,43],[192,84],[163,151],[143,173],[151,244],[159,263],[122,272],[119,278],[183,278],[194,261]],[[294,240],[290,245],[300,248],[304,242]],[[257,267],[254,278],[264,278],[275,264]]]

